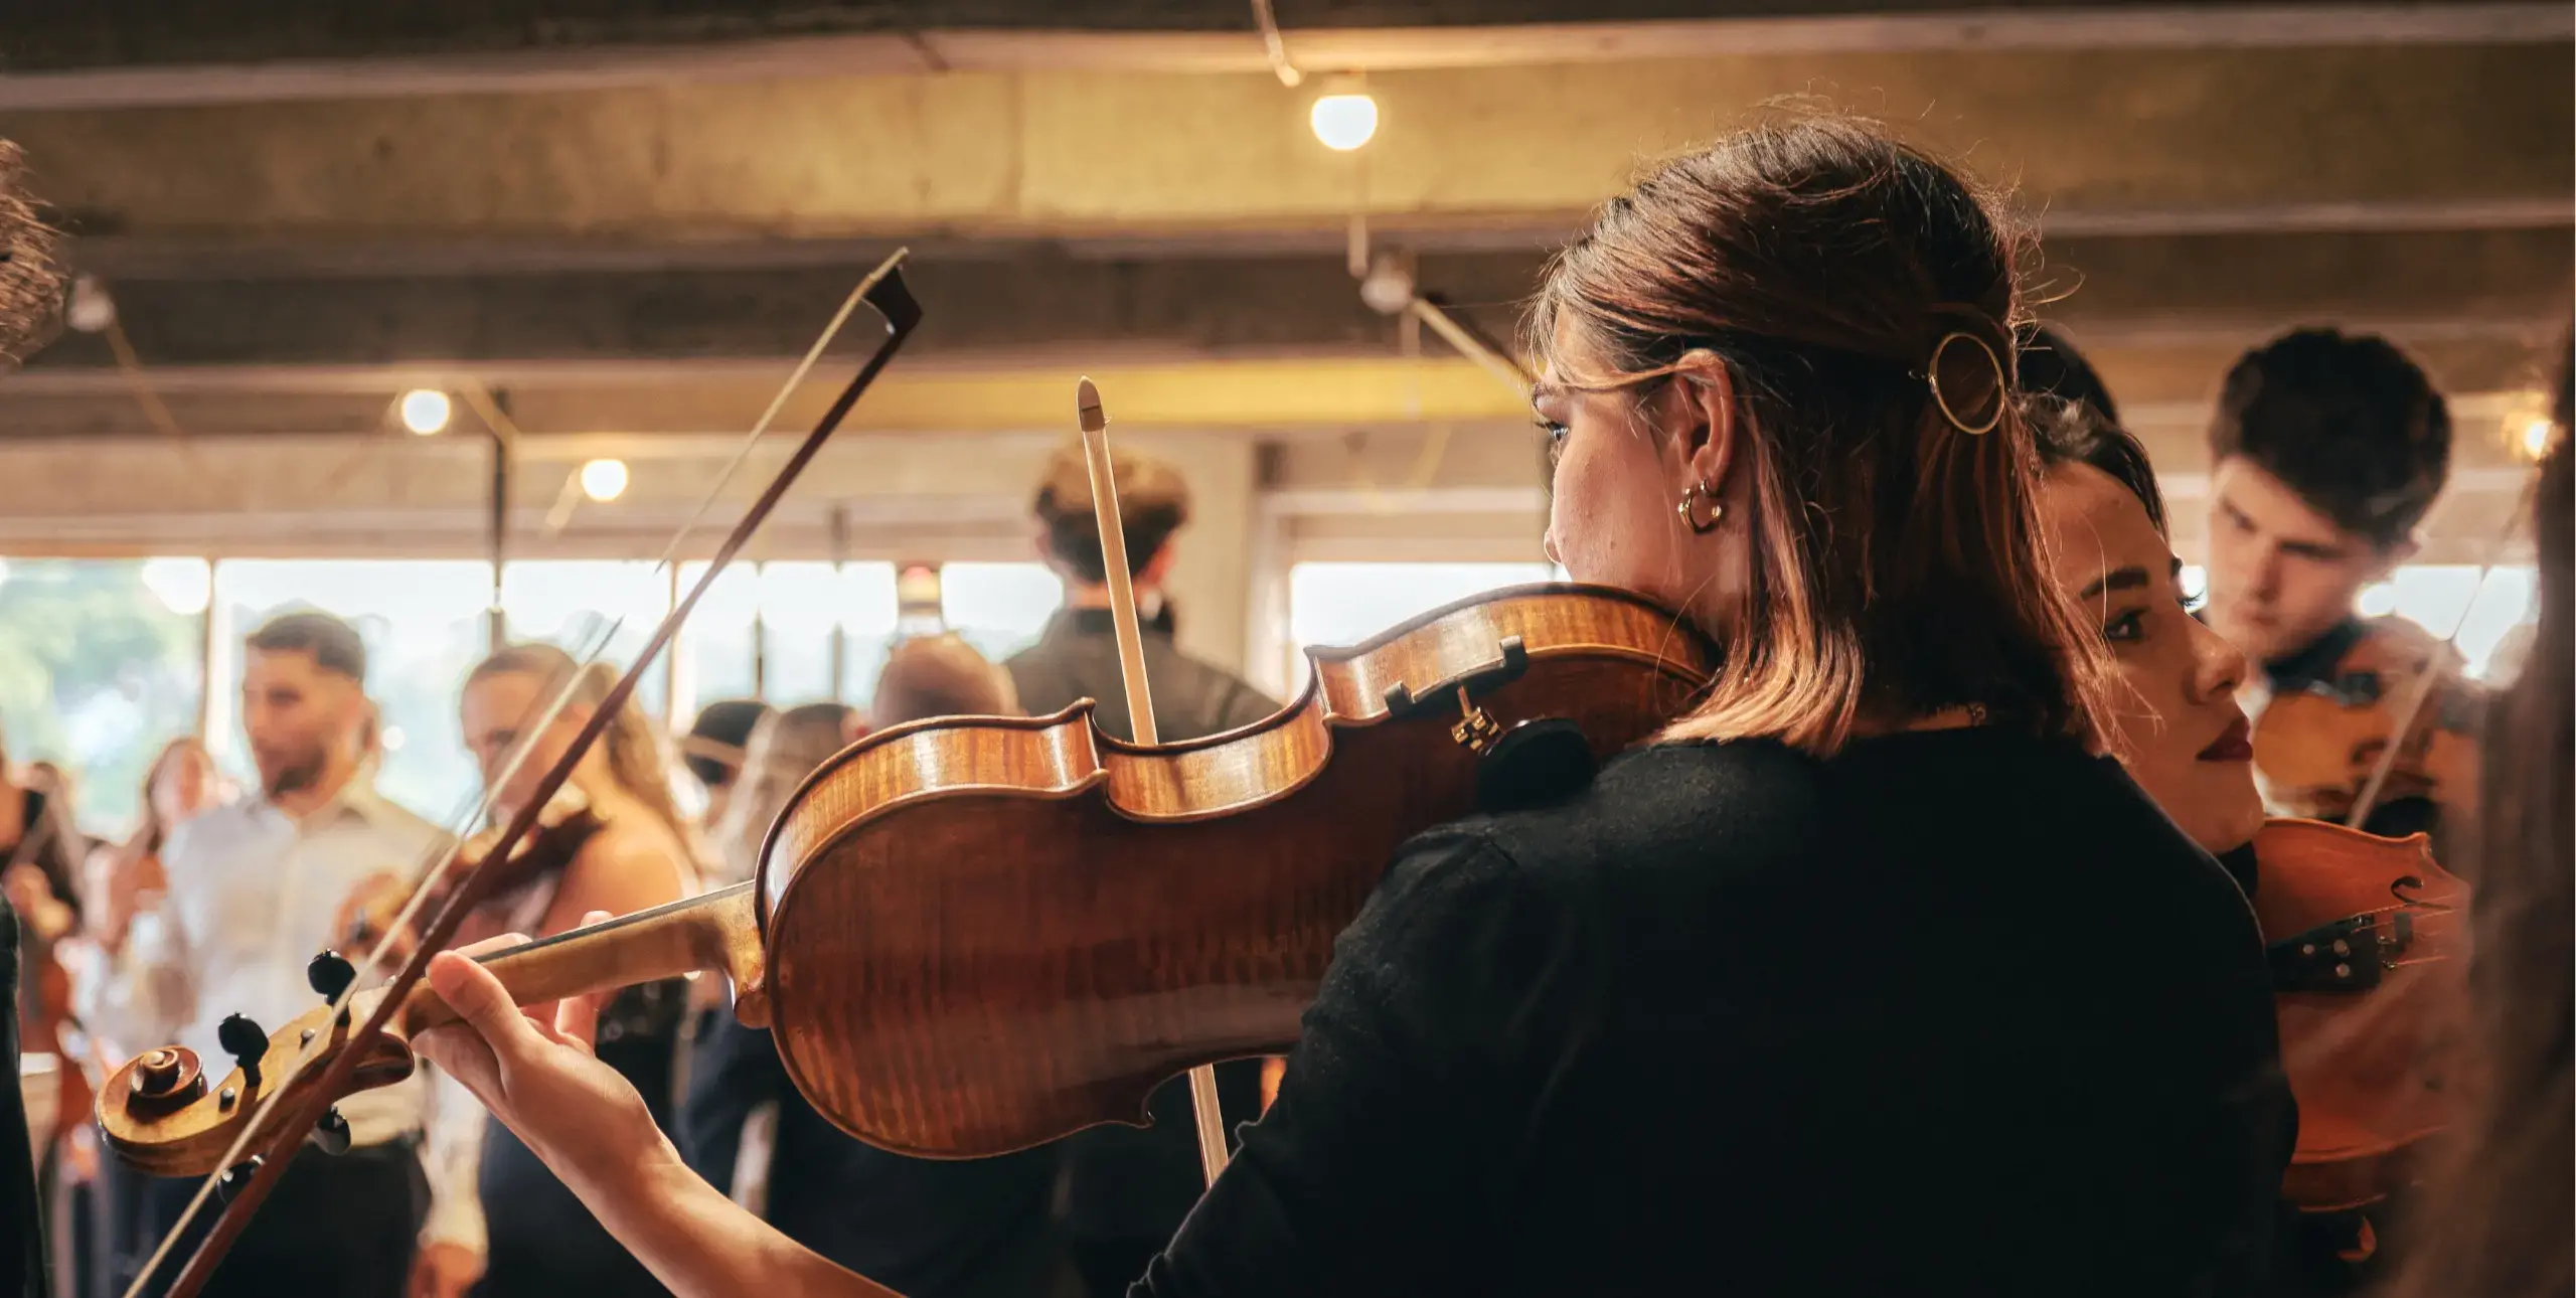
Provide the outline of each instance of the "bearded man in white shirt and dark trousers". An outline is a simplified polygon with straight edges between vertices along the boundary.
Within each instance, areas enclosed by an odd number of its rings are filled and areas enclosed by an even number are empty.
[[[363,778],[371,716],[366,644],[340,618],[286,613],[250,636],[242,731],[260,791],[170,834],[162,852],[170,891],[137,914],[113,968],[103,971],[98,1002],[108,1035],[178,1040],[219,1077],[234,1064],[219,1040],[229,1015],[276,1030],[322,1002],[307,963],[335,945],[343,899],[368,876],[415,873],[440,842],[433,824],[379,798]],[[209,1295],[402,1298],[430,1208],[417,1151],[420,1079],[358,1092],[340,1102],[340,1115],[350,1151],[296,1154]],[[149,1257],[196,1182],[165,1180],[149,1190],[152,1239],[126,1267]],[[211,1200],[188,1236],[201,1236],[209,1221]],[[175,1277],[178,1262],[165,1262],[149,1293]]]

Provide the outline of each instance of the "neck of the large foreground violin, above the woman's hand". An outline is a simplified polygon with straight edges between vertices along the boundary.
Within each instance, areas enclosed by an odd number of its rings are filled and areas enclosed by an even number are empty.
[[[752,883],[621,914],[590,927],[479,955],[518,1004],[544,1004],[590,992],[719,971],[734,984],[734,1012],[757,1025],[762,1004],[760,919]],[[456,1022],[422,981],[402,1010],[407,1033]]]

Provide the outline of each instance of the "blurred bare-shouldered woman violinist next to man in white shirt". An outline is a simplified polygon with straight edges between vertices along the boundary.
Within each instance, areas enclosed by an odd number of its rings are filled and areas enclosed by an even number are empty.
[[[495,816],[515,816],[538,778],[572,747],[605,703],[616,675],[577,664],[551,644],[513,644],[474,672],[459,701],[464,739],[484,780],[502,780],[510,757],[526,760],[500,785]],[[569,685],[569,703],[546,706]],[[634,701],[582,752],[562,814],[526,847],[544,858],[533,873],[507,876],[459,930],[461,943],[497,932],[551,935],[580,927],[590,912],[629,914],[698,891],[698,860],[670,793],[659,734]],[[631,986],[603,1017],[600,1058],[652,1097],[670,1120],[685,981]],[[466,1293],[487,1298],[585,1293],[649,1295],[662,1288],[590,1218],[562,1182],[500,1123],[484,1120],[461,1092],[440,1089],[430,1154],[446,1192],[430,1221],[412,1280],[415,1298]],[[479,1213],[471,1205],[479,1203]]]

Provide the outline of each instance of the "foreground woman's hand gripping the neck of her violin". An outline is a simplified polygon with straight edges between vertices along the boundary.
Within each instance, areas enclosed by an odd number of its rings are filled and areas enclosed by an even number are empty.
[[[592,912],[585,922],[600,919],[608,914]],[[474,1092],[574,1192],[631,1190],[641,1185],[641,1164],[675,1154],[644,1097],[590,1051],[603,997],[523,1012],[500,979],[469,958],[520,943],[526,937],[513,932],[435,955],[430,989],[461,1022],[420,1033],[412,1046]]]

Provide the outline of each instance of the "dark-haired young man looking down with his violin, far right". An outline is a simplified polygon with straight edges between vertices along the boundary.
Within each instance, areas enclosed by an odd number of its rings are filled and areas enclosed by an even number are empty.
[[[2210,422],[2202,618],[2262,664],[2246,703],[2275,814],[2347,819],[2391,744],[2360,829],[2439,845],[2445,814],[2476,811],[2481,693],[2460,654],[2406,618],[2354,613],[2365,585],[2416,554],[2447,479],[2450,407],[2380,337],[2295,330],[2228,371]]]

